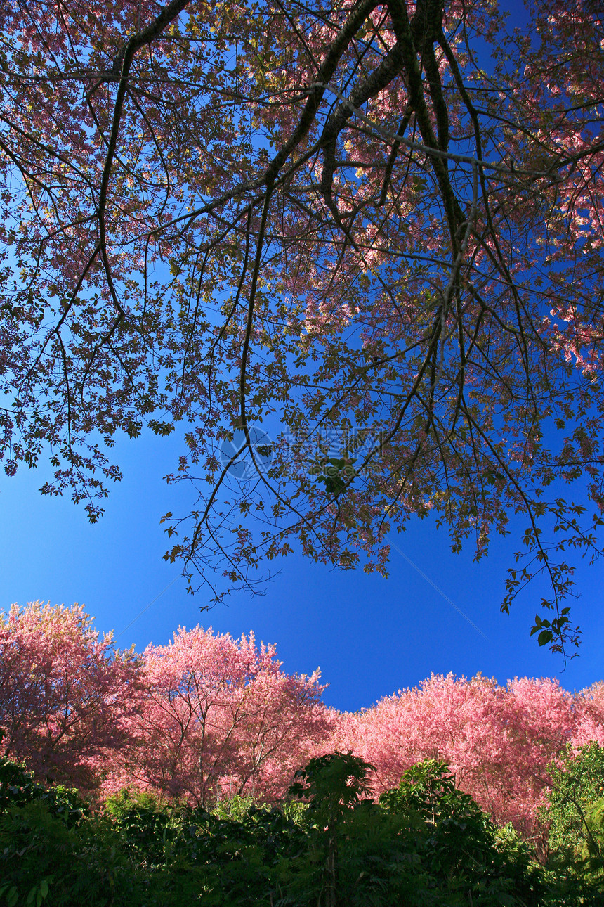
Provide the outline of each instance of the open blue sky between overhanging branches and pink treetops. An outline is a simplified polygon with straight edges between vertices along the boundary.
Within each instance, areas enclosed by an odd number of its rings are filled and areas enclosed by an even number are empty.
[[[521,24],[525,14],[517,0],[506,5],[513,24]],[[472,623],[398,551],[392,551],[388,580],[329,571],[292,556],[264,596],[241,593],[200,614],[206,592],[187,595],[177,564],[162,560],[168,540],[160,516],[184,512],[192,502],[190,491],[162,481],[177,466],[180,443],[178,434],[122,439],[116,459],[124,478],[95,525],[69,498],[42,497],[47,467],[12,479],[2,473],[0,609],[14,601],[78,601],[97,629],[113,629],[120,647],[135,643],[137,649],[166,643],[178,625],[202,623],[234,636],[252,629],[257,639],[277,644],[287,671],[311,673],[320,666],[330,685],[325,700],[340,709],[369,706],[432,672],[470,677],[480,671],[503,683],[514,676],[559,677],[568,689],[604,677],[603,561],[593,567],[580,562],[573,611],[583,642],[580,657],[562,672],[562,659],[529,638],[542,586],[529,588],[510,616],[499,611],[505,569],[517,547],[513,536],[495,539],[489,557],[475,564],[471,545],[453,554],[446,532],[429,520],[412,523],[394,541]]]

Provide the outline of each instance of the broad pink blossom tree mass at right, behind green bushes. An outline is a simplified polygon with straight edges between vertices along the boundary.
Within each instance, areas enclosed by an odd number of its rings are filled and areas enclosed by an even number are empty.
[[[480,675],[433,675],[375,706],[337,721],[333,746],[350,748],[376,767],[376,789],[388,790],[408,767],[445,759],[455,781],[497,824],[512,822],[540,839],[538,809],[549,767],[604,733],[599,685],[570,694],[555,680],[521,678],[506,687]]]

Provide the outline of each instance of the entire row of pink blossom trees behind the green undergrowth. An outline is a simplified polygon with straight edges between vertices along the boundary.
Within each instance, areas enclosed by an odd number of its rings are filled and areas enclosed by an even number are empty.
[[[604,746],[604,683],[436,676],[356,713],[321,700],[319,672],[288,675],[273,645],[179,628],[138,654],[78,605],[36,601],[0,616],[1,754],[45,784],[100,802],[122,788],[211,807],[279,804],[312,756],[351,752],[379,795],[410,766],[444,760],[495,824],[542,837],[552,766]]]

